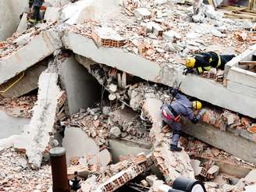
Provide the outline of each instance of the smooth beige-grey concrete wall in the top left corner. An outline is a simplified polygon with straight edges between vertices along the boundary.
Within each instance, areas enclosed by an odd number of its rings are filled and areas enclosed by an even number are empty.
[[[19,26],[20,14],[28,10],[28,0],[1,0],[0,8],[0,41],[4,41]]]

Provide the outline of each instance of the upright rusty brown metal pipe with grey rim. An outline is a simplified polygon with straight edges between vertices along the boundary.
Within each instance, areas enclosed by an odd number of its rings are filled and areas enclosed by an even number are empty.
[[[50,159],[52,166],[52,191],[69,192],[65,148],[52,148],[50,150]]]

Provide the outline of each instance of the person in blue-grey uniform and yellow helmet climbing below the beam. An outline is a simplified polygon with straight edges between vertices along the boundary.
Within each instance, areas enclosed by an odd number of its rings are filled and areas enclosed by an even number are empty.
[[[164,123],[172,127],[172,144],[171,151],[182,151],[178,147],[180,134],[181,134],[181,116],[186,116],[194,124],[198,123],[201,116],[206,112],[201,109],[202,104],[200,101],[189,101],[183,94],[179,94],[176,89],[171,89],[171,94],[176,98],[170,105],[164,104],[161,107],[162,120]],[[197,116],[194,116],[195,110],[200,110]]]

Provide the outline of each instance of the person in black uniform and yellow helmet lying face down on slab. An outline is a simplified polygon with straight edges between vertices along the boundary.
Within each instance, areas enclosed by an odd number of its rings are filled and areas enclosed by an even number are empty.
[[[203,73],[210,70],[212,67],[224,70],[225,65],[235,55],[219,55],[217,52],[201,52],[197,55],[192,55],[186,60],[186,73]]]

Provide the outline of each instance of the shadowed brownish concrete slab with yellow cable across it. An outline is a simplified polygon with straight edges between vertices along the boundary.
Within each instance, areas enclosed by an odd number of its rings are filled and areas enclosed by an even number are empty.
[[[18,76],[0,85],[0,94],[5,98],[18,98],[37,88],[41,73],[47,68],[42,63],[30,67]]]

